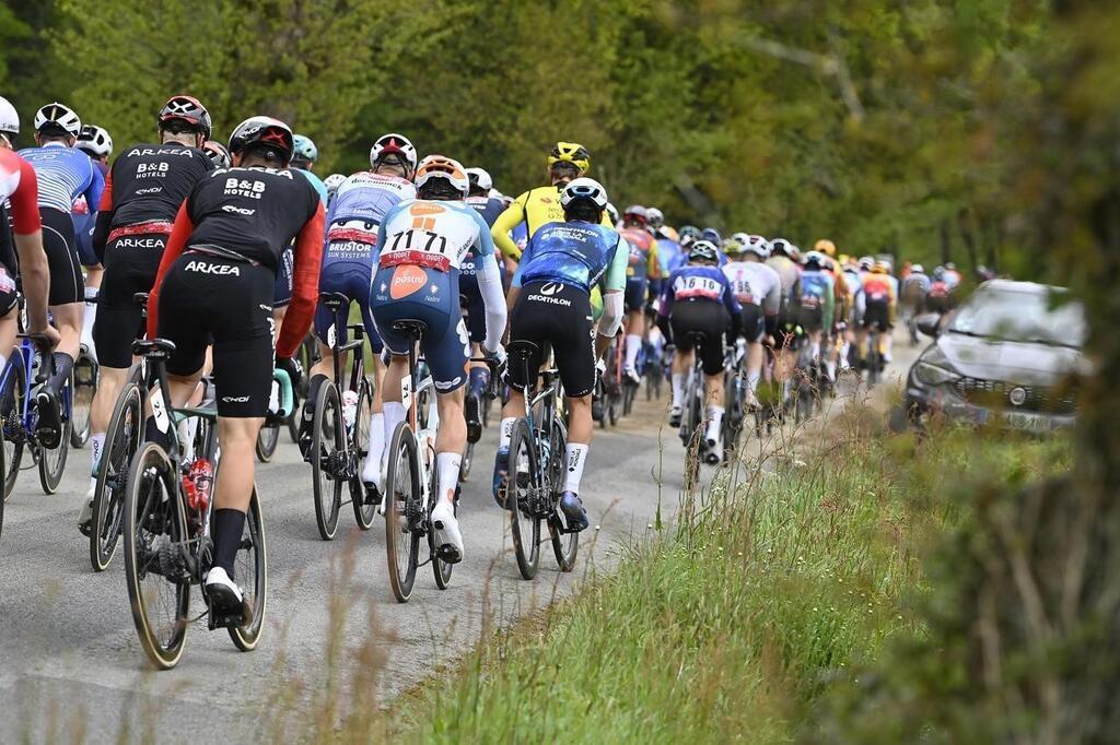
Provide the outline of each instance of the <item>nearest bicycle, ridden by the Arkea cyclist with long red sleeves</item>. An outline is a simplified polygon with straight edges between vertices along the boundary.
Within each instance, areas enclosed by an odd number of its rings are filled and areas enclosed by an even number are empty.
[[[141,388],[150,402],[157,426],[167,435],[168,447],[143,442],[129,469],[124,493],[124,574],[140,645],[152,664],[174,668],[183,657],[187,624],[207,619],[211,631],[224,628],[243,652],[256,648],[264,626],[268,596],[264,527],[256,487],[250,498],[245,527],[237,548],[239,577],[252,577],[243,588],[241,613],[217,617],[209,612],[203,578],[213,565],[209,484],[192,482],[188,497],[185,477],[205,459],[216,478],[221,468],[214,407],[175,408],[166,399],[166,360],[175,345],[166,339],[138,340],[132,352],[143,358]],[[290,388],[290,386],[289,386]],[[290,392],[288,398],[290,400]],[[187,463],[179,442],[178,421],[195,417],[198,427],[197,460]],[[216,480],[216,479],[215,479]],[[213,483],[213,481],[211,482]],[[198,585],[207,610],[189,619],[190,586]]]

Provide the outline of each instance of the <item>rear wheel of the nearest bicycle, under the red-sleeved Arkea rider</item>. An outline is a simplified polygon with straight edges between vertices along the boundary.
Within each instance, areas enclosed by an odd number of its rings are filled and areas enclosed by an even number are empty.
[[[183,502],[167,453],[144,443],[132,459],[124,493],[124,579],[140,645],[161,670],[183,657],[190,582],[181,551]]]

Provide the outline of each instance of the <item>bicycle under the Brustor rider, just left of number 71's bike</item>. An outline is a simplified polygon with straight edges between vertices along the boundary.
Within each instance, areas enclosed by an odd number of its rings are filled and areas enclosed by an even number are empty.
[[[315,400],[311,430],[311,484],[315,496],[315,524],[323,540],[333,540],[338,531],[343,487],[349,488],[354,520],[362,530],[373,526],[381,501],[376,488],[367,490],[362,482],[362,464],[370,449],[370,406],[373,386],[365,377],[365,327],[346,326],[349,298],[337,292],[324,292],[319,301],[334,314],[330,330],[330,355],[334,379],[319,386]],[[335,343],[336,329],[349,329],[354,338],[345,345]],[[344,383],[345,355],[353,352],[349,377]],[[353,400],[351,400],[353,397]]]

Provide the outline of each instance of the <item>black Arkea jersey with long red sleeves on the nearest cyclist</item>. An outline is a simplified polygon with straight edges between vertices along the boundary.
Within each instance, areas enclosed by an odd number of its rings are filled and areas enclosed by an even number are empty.
[[[276,272],[296,241],[292,296],[277,355],[291,357],[315,313],[323,263],[323,201],[311,182],[288,169],[220,169],[199,181],[175,217],[148,301],[148,333],[158,328],[159,286],[171,264],[192,248],[260,264]]]

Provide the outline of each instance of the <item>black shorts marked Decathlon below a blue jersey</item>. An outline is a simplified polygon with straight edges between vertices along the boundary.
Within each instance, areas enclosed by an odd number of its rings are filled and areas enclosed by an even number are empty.
[[[538,352],[529,358],[535,375],[551,345],[564,395],[581,398],[595,389],[595,324],[587,292],[559,282],[534,282],[521,289],[510,315],[510,341],[532,341]],[[525,365],[510,358],[508,383],[525,389]]]

